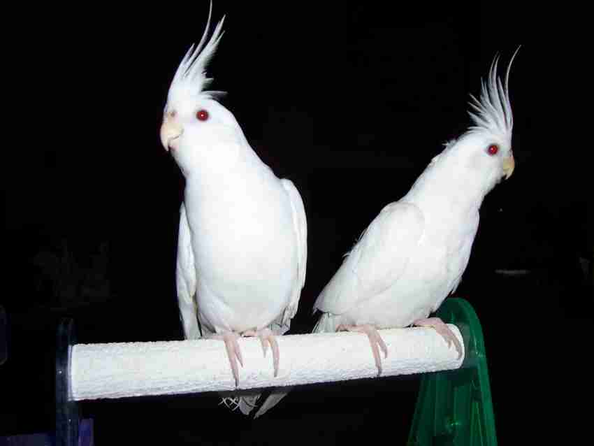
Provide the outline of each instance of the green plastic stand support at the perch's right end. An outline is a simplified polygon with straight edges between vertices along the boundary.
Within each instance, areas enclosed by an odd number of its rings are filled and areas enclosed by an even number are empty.
[[[483,331],[461,298],[447,298],[437,316],[462,333],[465,358],[454,371],[426,373],[408,438],[409,446],[496,446]]]

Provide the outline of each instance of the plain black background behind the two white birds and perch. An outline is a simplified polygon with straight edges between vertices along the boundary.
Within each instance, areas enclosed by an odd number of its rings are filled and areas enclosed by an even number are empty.
[[[159,143],[171,77],[202,35],[208,3],[99,5],[21,16],[7,53],[20,108],[5,104],[0,435],[49,431],[57,320],[80,342],[182,338],[175,246],[183,178]],[[216,1],[226,34],[209,73],[254,150],[300,190],[307,281],[293,333],[341,256],[470,124],[469,93],[495,53],[507,62],[538,18],[492,2],[388,6]],[[26,18],[24,18],[26,17]],[[591,401],[591,167],[561,105],[574,51],[526,43],[510,78],[516,171],[484,201],[456,292],[484,328],[500,444],[581,440]],[[13,57],[14,56],[14,57]],[[568,119],[569,118],[569,119]],[[591,165],[590,165],[591,166]],[[528,269],[509,277],[496,269]],[[589,282],[588,282],[589,281]],[[89,291],[96,290],[95,292]],[[97,291],[99,290],[99,291]],[[82,403],[98,445],[330,444],[407,437],[419,377],[303,387],[249,422],[216,395]]]

